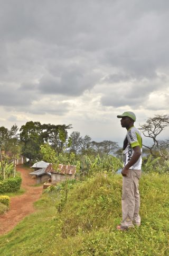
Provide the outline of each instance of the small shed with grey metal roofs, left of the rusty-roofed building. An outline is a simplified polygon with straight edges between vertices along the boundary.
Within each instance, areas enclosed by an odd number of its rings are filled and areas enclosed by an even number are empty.
[[[34,175],[36,178],[36,184],[43,183],[48,181],[51,178],[50,172],[45,172],[46,167],[48,167],[49,163],[44,161],[40,161],[31,166],[34,169],[34,172],[31,172],[30,175]]]

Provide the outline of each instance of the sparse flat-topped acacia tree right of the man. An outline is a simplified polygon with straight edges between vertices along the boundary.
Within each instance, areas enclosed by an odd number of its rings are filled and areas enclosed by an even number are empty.
[[[149,117],[144,125],[140,125],[140,130],[144,136],[153,139],[152,146],[146,146],[144,144],[143,146],[149,149],[151,155],[153,155],[153,149],[157,148],[159,155],[164,157],[166,160],[167,156],[162,153],[157,136],[167,126],[169,126],[169,115],[167,114],[157,114],[155,117]]]

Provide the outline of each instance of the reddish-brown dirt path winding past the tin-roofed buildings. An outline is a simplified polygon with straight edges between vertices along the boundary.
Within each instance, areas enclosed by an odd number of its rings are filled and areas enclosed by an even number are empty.
[[[31,187],[35,179],[29,175],[30,170],[24,169],[22,165],[17,166],[17,171],[21,172],[21,187],[26,190],[24,195],[11,198],[10,210],[0,215],[0,235],[11,231],[26,215],[33,213],[33,202],[37,201],[42,194],[43,187]]]

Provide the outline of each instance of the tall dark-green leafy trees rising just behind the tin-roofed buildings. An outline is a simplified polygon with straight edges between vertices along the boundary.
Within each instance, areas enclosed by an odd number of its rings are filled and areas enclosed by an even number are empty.
[[[26,122],[20,129],[20,139],[24,143],[22,153],[31,161],[42,157],[40,146],[44,143],[51,145],[55,153],[59,154],[67,147],[68,131],[71,125],[51,125],[40,122]],[[69,144],[69,143],[68,143]]]

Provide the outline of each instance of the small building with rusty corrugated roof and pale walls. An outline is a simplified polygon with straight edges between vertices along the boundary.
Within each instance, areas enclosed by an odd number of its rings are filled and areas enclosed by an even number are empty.
[[[65,176],[67,176],[67,179],[74,179],[76,166],[59,164],[58,169],[54,170],[52,164],[49,164],[48,167],[46,167],[45,172],[51,173],[52,183],[55,184],[64,181]]]

